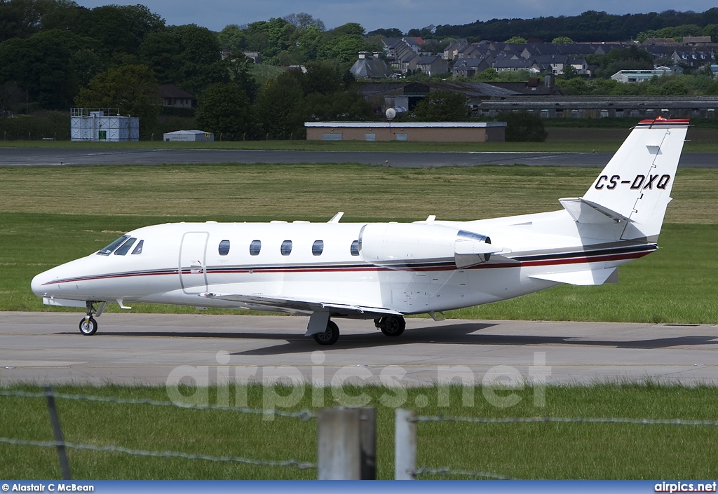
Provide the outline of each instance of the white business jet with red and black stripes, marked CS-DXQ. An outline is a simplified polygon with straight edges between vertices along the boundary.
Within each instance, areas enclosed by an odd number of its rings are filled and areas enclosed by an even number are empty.
[[[416,223],[167,223],[132,230],[90,256],[38,274],[48,305],[83,307],[93,335],[109,302],[309,315],[306,336],[332,345],[331,318],[373,320],[386,336],[404,315],[437,313],[557,284],[617,281],[656,250],[688,120],[641,121],[583,197],[551,213]]]

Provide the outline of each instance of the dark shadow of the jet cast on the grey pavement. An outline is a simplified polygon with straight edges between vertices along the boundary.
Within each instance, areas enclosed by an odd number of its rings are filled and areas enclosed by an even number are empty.
[[[434,345],[576,345],[598,346],[607,348],[645,349],[671,348],[683,345],[718,345],[715,336],[682,335],[648,340],[616,341],[589,340],[575,336],[541,336],[541,335],[490,335],[479,331],[487,330],[497,324],[446,325],[442,327],[426,326],[407,330],[400,337],[386,337],[378,330],[359,335],[342,335],[332,346],[320,346],[312,338],[297,333],[287,335],[286,332],[177,332],[177,331],[144,331],[144,332],[98,332],[95,337],[131,336],[131,337],[184,337],[184,338],[228,338],[234,340],[268,340],[283,341],[284,344],[269,345],[263,348],[231,353],[231,355],[282,355],[306,353],[314,350],[355,350],[360,348],[381,348],[385,346],[401,347],[416,343]],[[75,333],[72,333],[75,334]]]

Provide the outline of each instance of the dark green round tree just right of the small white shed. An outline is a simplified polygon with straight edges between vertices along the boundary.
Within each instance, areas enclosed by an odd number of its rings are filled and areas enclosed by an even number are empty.
[[[214,132],[215,139],[238,141],[251,136],[253,119],[249,98],[236,83],[208,85],[197,101],[195,124]]]

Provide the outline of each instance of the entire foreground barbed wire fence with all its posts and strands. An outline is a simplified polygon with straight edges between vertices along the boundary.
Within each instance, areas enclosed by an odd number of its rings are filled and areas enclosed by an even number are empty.
[[[0,437],[0,444],[16,446],[30,446],[42,448],[56,448],[60,460],[62,477],[71,480],[70,465],[67,462],[65,449],[77,449],[103,453],[121,453],[138,457],[180,458],[183,460],[198,460],[209,462],[230,462],[244,465],[266,467],[291,467],[299,470],[315,469],[317,476],[322,479],[373,479],[376,478],[376,409],[373,407],[321,409],[317,414],[309,410],[282,411],[276,409],[253,409],[246,406],[197,405],[174,401],[157,401],[151,399],[123,399],[115,396],[73,395],[55,393],[49,386],[44,393],[1,390],[0,396],[47,400],[50,413],[54,441],[36,441],[12,437]],[[116,405],[144,405],[159,407],[174,407],[179,409],[214,410],[234,412],[238,414],[274,415],[302,422],[317,420],[317,463],[288,460],[264,460],[243,456],[213,456],[178,451],[150,451],[145,449],[132,449],[117,444],[82,444],[66,442],[62,437],[62,429],[57,416],[55,399],[87,401],[93,403],[106,403]],[[462,476],[483,479],[515,480],[515,477],[486,472],[481,470],[466,470],[449,466],[429,467],[416,466],[417,452],[417,425],[439,422],[454,422],[465,424],[631,424],[631,425],[671,425],[689,427],[718,427],[715,420],[686,420],[686,419],[633,419],[625,417],[481,417],[481,416],[419,416],[416,411],[397,409],[395,419],[395,465],[394,477],[396,480],[414,480],[426,475]]]

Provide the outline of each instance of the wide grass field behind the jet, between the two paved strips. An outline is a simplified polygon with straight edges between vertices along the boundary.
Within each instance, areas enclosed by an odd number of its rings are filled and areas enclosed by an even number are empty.
[[[118,233],[181,220],[468,220],[559,208],[595,169],[393,169],[337,165],[200,165],[0,169],[0,310],[43,310],[29,281]],[[620,269],[619,284],[560,286],[449,317],[718,322],[717,171],[681,169],[661,249]],[[58,309],[54,309],[58,310]],[[112,308],[111,310],[116,310]],[[136,304],[143,312],[194,312]]]

